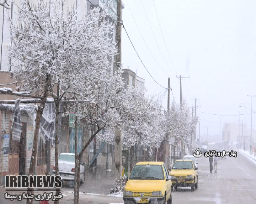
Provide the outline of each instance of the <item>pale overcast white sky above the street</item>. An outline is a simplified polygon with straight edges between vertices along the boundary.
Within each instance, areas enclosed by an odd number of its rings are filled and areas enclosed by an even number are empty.
[[[161,35],[154,2],[171,60]],[[223,126],[225,122],[238,122],[239,116],[210,114],[234,115],[239,114],[237,111],[244,114],[244,108],[239,108],[239,105],[249,103],[247,107],[251,108],[251,97],[247,95],[256,95],[256,1],[154,2],[123,0],[123,23],[128,35],[153,78],[167,87],[170,77],[176,103],[180,103],[180,83],[176,75],[190,75],[190,79],[182,80],[182,95],[190,104],[194,104],[194,98],[197,98],[197,104],[201,106],[197,112],[201,134],[206,134],[207,126],[209,135],[220,134],[220,120]],[[122,63],[124,68],[129,64],[134,72],[139,70],[139,77],[146,80],[148,94],[164,90],[146,72],[124,29]],[[253,101],[252,109],[256,111],[256,97]],[[167,94],[163,104],[167,108]],[[246,109],[246,113],[250,112]],[[240,119],[244,123],[244,115]],[[253,114],[252,121],[256,125],[256,114]],[[246,123],[250,128],[250,114],[246,115]]]

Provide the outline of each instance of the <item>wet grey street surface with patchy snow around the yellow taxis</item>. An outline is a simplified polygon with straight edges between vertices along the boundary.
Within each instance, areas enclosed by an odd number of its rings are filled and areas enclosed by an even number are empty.
[[[252,204],[256,203],[256,164],[244,154],[239,158],[227,157],[219,160],[217,174],[210,174],[208,158],[198,159],[198,189],[194,192],[179,189],[172,192],[173,204]],[[85,185],[85,184],[84,184]],[[83,187],[81,187],[83,188]],[[95,188],[95,187],[93,187]],[[14,204],[4,199],[4,188],[0,188],[0,204]],[[73,204],[73,190],[63,189],[66,196],[60,204]],[[105,191],[108,191],[105,189]],[[123,203],[120,197],[103,195],[99,192],[80,193],[80,203],[109,204]],[[25,202],[21,202],[22,204]],[[38,203],[38,202],[35,202]]]

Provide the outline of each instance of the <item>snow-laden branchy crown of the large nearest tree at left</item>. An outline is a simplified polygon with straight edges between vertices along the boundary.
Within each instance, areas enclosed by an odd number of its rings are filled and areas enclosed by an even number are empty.
[[[20,5],[9,57],[23,90],[40,93],[47,75],[51,84],[60,83],[60,92],[83,87],[93,70],[107,66],[107,54],[114,56],[116,48],[106,35],[113,24],[104,22],[105,9],[94,8],[81,18],[74,7],[64,15],[58,2],[20,0]]]

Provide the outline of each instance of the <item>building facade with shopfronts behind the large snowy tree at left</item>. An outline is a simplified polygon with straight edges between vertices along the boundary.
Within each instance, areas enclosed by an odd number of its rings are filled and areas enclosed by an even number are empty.
[[[32,1],[36,4],[37,1]],[[49,4],[49,0],[46,1]],[[51,1],[52,3],[55,2],[54,0]],[[57,2],[57,1],[56,1]],[[108,11],[113,14],[113,18],[116,19],[117,16],[117,1],[116,0],[78,0],[78,13],[81,16],[87,14],[87,12],[94,6],[102,6],[102,3],[107,3]],[[15,0],[15,4],[18,5],[18,0]],[[75,5],[75,0],[67,0],[64,4],[63,10],[64,13],[68,11],[71,6]],[[122,3],[122,8],[124,8],[124,4]],[[9,71],[11,67],[9,67],[9,59],[7,57],[7,47],[11,45],[11,38],[10,38],[10,30],[9,30],[9,22],[7,19],[9,16],[13,15],[13,19],[15,19],[15,13],[17,13],[17,6],[12,5],[11,10],[4,10],[3,7],[0,7],[0,16],[3,16],[4,12],[4,22],[0,22],[0,27],[3,29],[0,30],[0,42],[2,43],[2,56],[1,56],[1,72],[0,72],[0,84],[9,84],[14,82],[11,77],[9,76]],[[110,22],[111,19],[108,19]],[[2,24],[4,23],[4,24]],[[115,41],[116,30],[113,32],[113,41]],[[2,38],[3,35],[3,38]],[[116,67],[114,63],[114,58],[109,59],[111,62],[111,70]],[[134,80],[135,84],[135,80]],[[10,84],[1,87],[9,87],[15,89],[17,84]],[[0,88],[1,88],[0,87]],[[0,95],[0,100],[16,100],[15,96],[11,95]],[[29,105],[28,105],[29,106]],[[12,117],[13,117],[13,108],[14,105],[8,106],[9,108],[6,109],[6,106],[1,106],[0,112],[0,127],[1,127],[1,138],[0,143],[2,147],[1,155],[3,157],[3,162],[0,161],[0,174],[1,171],[3,173],[1,176],[4,175],[18,175],[19,171],[22,169],[22,166],[19,166],[21,158],[25,158],[26,165],[25,165],[25,172],[20,172],[22,174],[28,174],[28,168],[30,165],[31,159],[31,145],[33,145],[33,136],[34,136],[34,121],[33,119],[26,113],[22,112],[22,124],[23,124],[23,138],[25,140],[25,145],[23,143],[12,142],[11,134],[10,134],[10,127],[12,125]],[[64,114],[68,113],[68,114]],[[62,114],[62,123],[60,128],[60,138],[59,138],[59,154],[60,153],[74,153],[74,132],[75,128],[70,123],[72,119],[72,112],[70,110],[64,111]],[[90,128],[86,126],[86,124],[82,127],[79,127],[78,130],[78,152],[81,151],[82,146],[86,144],[89,140],[91,134],[93,132],[90,131]],[[24,141],[23,140],[23,141]],[[25,147],[25,151],[20,151],[20,147]],[[36,175],[45,175],[46,173],[51,174],[54,162],[55,162],[55,149],[54,144],[50,142],[44,142],[43,140],[38,141],[38,155],[36,161]],[[89,145],[89,148],[83,154],[82,160],[87,165],[92,163],[92,158],[96,153],[98,153],[96,158],[96,169],[105,169],[106,170],[106,162],[108,160],[108,169],[112,169],[114,158],[114,147],[112,145],[108,145],[106,143],[102,143],[100,141],[92,141]],[[20,157],[20,153],[22,156]],[[107,159],[108,158],[108,159]],[[15,164],[15,165],[14,165]]]

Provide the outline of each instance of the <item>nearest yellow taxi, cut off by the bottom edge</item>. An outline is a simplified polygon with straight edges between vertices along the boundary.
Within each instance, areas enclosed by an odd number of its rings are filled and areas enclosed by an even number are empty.
[[[127,177],[124,204],[171,204],[172,181],[163,162],[139,162]]]

